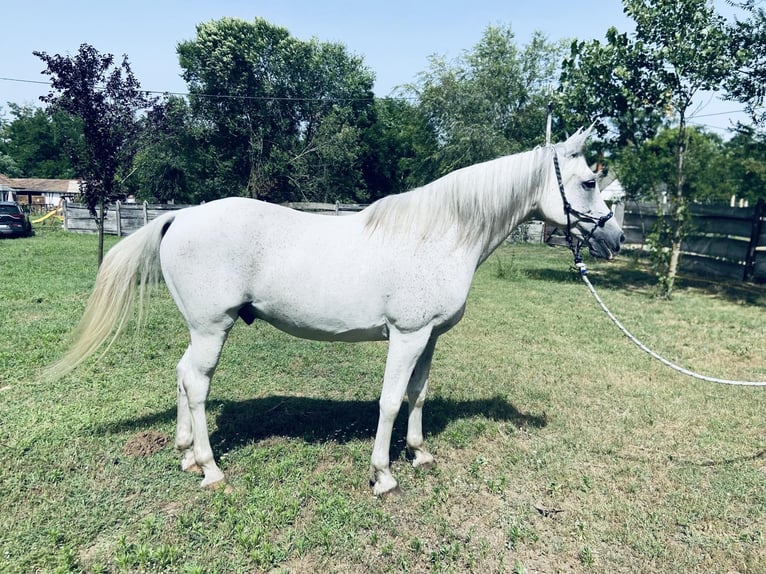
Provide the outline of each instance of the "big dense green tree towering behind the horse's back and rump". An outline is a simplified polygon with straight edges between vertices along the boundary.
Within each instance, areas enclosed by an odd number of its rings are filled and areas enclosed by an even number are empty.
[[[178,54],[217,189],[270,201],[366,197],[355,144],[374,98],[360,58],[260,18],[200,24]]]

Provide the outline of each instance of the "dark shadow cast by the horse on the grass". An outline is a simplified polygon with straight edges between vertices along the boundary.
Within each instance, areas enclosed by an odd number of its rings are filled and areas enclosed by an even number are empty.
[[[316,399],[309,397],[270,396],[244,401],[214,401],[217,429],[210,443],[217,456],[251,442],[271,437],[299,438],[308,443],[372,439],[378,422],[377,401]],[[438,435],[458,419],[483,416],[518,428],[544,427],[547,417],[522,413],[500,397],[456,401],[435,397],[426,401],[423,427],[426,436]],[[118,421],[102,427],[114,433],[167,425],[175,421],[176,410],[167,409],[151,416]],[[392,456],[404,449],[407,404],[402,404],[392,442]]]

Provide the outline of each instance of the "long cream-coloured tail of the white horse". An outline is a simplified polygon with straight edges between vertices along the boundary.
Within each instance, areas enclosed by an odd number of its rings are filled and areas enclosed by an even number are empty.
[[[74,342],[59,361],[48,367],[44,378],[64,376],[108,340],[103,356],[124,329],[135,304],[140,324],[151,287],[161,275],[160,242],[175,217],[172,212],[158,217],[109,250],[73,332]]]

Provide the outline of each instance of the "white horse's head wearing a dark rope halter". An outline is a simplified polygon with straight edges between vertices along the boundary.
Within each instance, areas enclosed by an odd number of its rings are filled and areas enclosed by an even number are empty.
[[[625,236],[611,217],[596,176],[583,157],[583,144],[589,135],[590,129],[577,130],[566,142],[547,148],[551,151],[546,169],[551,175],[538,211],[548,223],[587,243],[594,257],[611,259]]]

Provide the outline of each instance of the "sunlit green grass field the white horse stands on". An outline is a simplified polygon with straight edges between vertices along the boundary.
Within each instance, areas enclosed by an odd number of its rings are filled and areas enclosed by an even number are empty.
[[[766,572],[766,389],[641,353],[563,249],[504,247],[479,270],[436,349],[438,465],[408,464],[400,417],[403,494],[376,499],[383,344],[238,323],[208,408],[228,494],[199,489],[172,447],[187,332],[164,288],[143,331],[38,382],[82,312],[95,244],[0,242],[0,572]],[[589,263],[651,347],[766,379],[766,290],[682,281],[661,302],[635,257]]]

